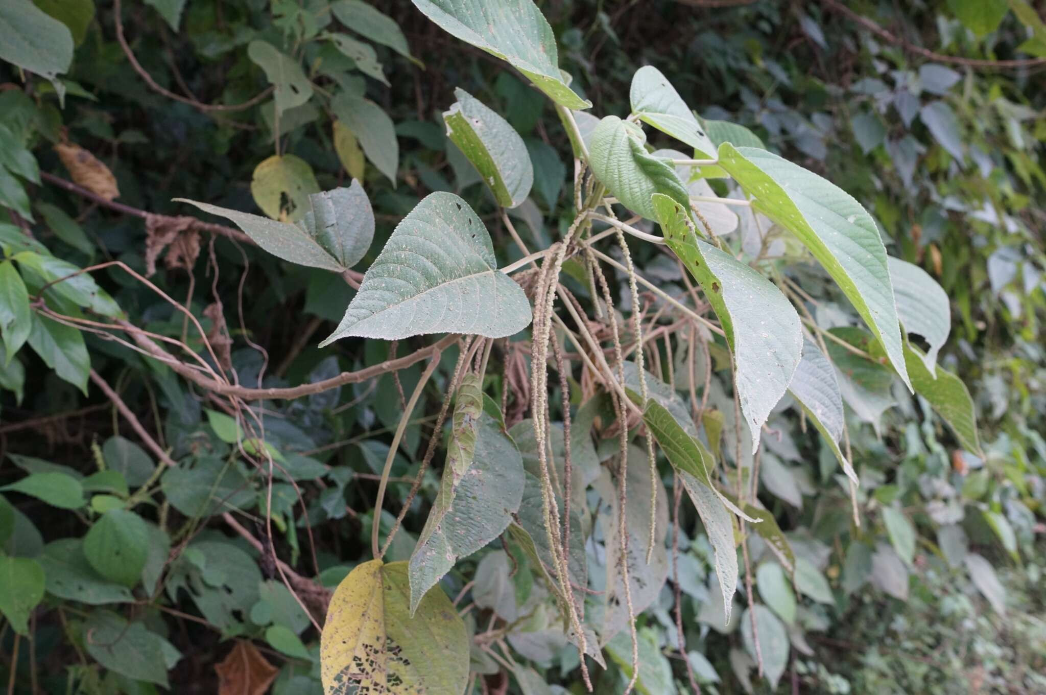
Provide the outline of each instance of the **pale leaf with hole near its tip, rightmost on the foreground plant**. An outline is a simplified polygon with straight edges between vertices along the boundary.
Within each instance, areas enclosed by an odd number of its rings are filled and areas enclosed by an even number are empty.
[[[952,308],[948,294],[930,273],[918,266],[892,256],[888,262],[901,326],[905,332],[922,336],[929,344],[923,363],[933,377],[937,353],[948,341],[952,330]],[[914,377],[912,379],[914,381]]]

